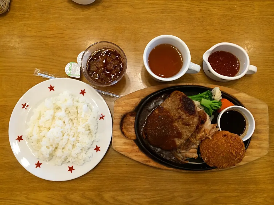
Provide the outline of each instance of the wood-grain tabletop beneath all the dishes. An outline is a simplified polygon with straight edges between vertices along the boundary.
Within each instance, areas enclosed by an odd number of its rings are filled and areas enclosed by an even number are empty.
[[[274,203],[274,2],[273,1],[11,1],[0,15],[0,204],[273,204]],[[89,173],[65,182],[45,181],[15,159],[8,138],[9,118],[19,98],[45,80],[35,68],[66,76],[65,65],[90,44],[118,44],[126,53],[124,78],[109,90],[126,95],[157,85],[146,72],[143,51],[161,34],[188,45],[192,62],[202,66],[204,52],[219,42],[242,46],[255,75],[227,83],[204,71],[174,83],[211,83],[238,89],[269,106],[269,153],[241,167],[210,173],[152,168],[109,147]],[[84,78],[80,80],[85,81]],[[106,97],[113,111],[115,99]]]

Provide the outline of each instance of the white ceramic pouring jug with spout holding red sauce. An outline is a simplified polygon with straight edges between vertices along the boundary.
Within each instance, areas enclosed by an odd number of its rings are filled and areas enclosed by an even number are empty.
[[[238,58],[240,63],[240,69],[235,76],[229,77],[229,76],[221,75],[213,70],[210,63],[208,62],[208,57],[210,56],[210,54],[216,51],[226,51],[226,52],[232,53],[234,56]],[[204,60],[203,69],[206,75],[210,77],[211,79],[220,81],[220,82],[236,80],[243,77],[245,74],[250,75],[257,72],[257,67],[249,64],[249,56],[247,55],[247,52],[241,46],[238,46],[233,43],[218,43],[212,46],[209,50],[207,50],[204,53],[203,60]]]

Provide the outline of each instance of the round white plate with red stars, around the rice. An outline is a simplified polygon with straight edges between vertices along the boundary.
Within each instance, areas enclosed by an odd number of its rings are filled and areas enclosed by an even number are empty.
[[[50,87],[54,87],[50,91]],[[61,166],[55,166],[51,161],[41,161],[33,155],[30,147],[28,146],[27,140],[24,137],[24,132],[27,129],[27,122],[33,115],[33,109],[36,108],[46,98],[58,96],[64,91],[69,91],[74,96],[82,96],[80,94],[84,91],[84,97],[94,107],[97,107],[100,115],[98,116],[98,130],[97,135],[99,136],[98,142],[92,144],[92,157],[91,161],[84,163],[81,166],[73,165],[71,163],[62,164]],[[25,105],[25,106],[24,106]],[[22,136],[23,140],[16,140],[18,136]],[[33,175],[42,179],[51,181],[66,181],[80,177],[93,169],[104,157],[112,137],[112,118],[108,108],[108,105],[90,85],[83,83],[82,81],[69,79],[69,78],[56,78],[46,80],[39,83],[29,89],[17,102],[11,119],[9,121],[9,142],[13,154],[19,163],[27,169]],[[100,147],[100,151],[94,150]],[[37,167],[37,162],[42,165]],[[72,171],[68,171],[69,167],[72,167]]]

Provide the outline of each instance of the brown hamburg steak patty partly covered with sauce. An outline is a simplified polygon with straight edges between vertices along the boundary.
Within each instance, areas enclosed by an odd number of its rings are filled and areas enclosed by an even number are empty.
[[[154,147],[176,149],[195,131],[198,117],[195,103],[184,93],[174,91],[148,116],[143,137]]]

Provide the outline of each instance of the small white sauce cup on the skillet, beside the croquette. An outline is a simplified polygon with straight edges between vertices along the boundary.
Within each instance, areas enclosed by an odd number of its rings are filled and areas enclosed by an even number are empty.
[[[244,108],[242,106],[233,105],[228,108],[225,108],[224,110],[222,110],[220,112],[220,114],[217,117],[217,125],[219,127],[219,130],[221,130],[220,119],[221,119],[223,113],[228,110],[238,111],[244,116],[245,122],[246,122],[246,127],[245,127],[245,132],[243,132],[243,134],[240,136],[240,138],[242,138],[243,141],[248,140],[252,136],[252,134],[255,130],[255,120],[254,120],[254,117],[251,114],[251,112],[249,112],[249,110],[247,110],[246,108]]]

